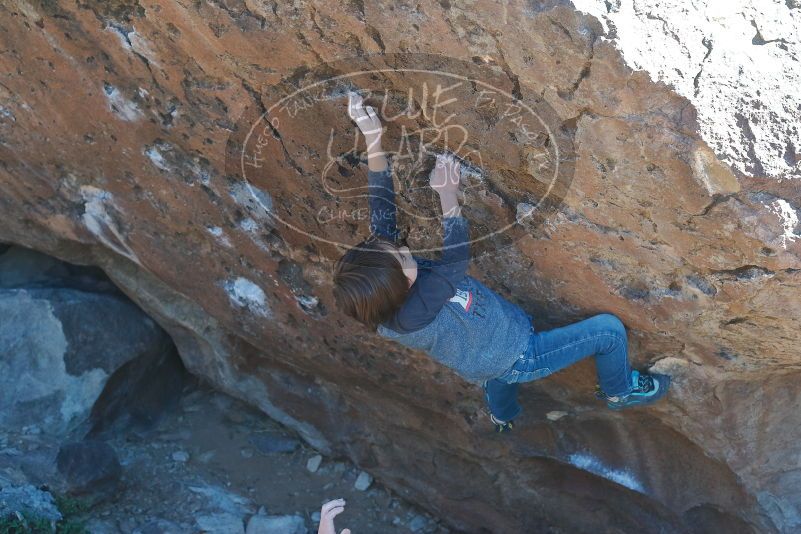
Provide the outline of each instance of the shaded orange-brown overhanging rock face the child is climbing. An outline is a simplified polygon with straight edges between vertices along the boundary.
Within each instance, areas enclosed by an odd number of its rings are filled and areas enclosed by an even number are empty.
[[[797,17],[793,6],[782,9]],[[0,26],[0,241],[102,268],[191,372],[467,531],[801,527],[797,158],[767,169],[721,151],[702,136],[714,116],[702,128],[691,102],[633,71],[597,19],[561,1],[13,0]],[[261,174],[231,165],[276,94],[348,72],[352,58],[389,67],[353,85],[397,97],[416,63],[393,54],[415,52],[480,67],[497,89],[487,106],[462,106],[455,128],[474,151],[465,212],[471,236],[521,224],[477,243],[471,274],[539,330],[617,314],[634,362],[674,376],[666,402],[609,413],[586,362],[524,386],[519,430],[496,436],[477,388],[337,313],[330,260],[367,233],[342,216],[366,203],[342,194],[366,178],[345,147],[347,84],[312,107],[294,100],[303,120],[284,109],[264,123],[249,161]],[[498,134],[517,118],[501,96],[543,120],[535,135]],[[431,113],[407,122],[387,139],[444,129]],[[555,162],[569,180],[533,224]],[[430,198],[415,196],[420,169],[408,167],[404,202],[420,210],[401,224],[425,248],[433,234],[410,229],[435,226],[419,217]]]

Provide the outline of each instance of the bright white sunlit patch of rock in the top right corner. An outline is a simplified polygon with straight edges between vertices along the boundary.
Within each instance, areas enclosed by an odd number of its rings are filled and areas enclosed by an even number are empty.
[[[698,110],[701,136],[741,172],[801,178],[801,6],[790,1],[575,0],[626,61]],[[675,46],[676,42],[681,46]],[[758,104],[757,104],[758,103]]]

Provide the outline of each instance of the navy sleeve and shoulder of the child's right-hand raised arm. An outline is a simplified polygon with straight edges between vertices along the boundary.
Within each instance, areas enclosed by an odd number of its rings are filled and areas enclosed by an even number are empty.
[[[406,302],[388,325],[397,332],[413,332],[430,324],[465,277],[470,261],[467,219],[446,217],[442,224],[442,257],[412,285]]]

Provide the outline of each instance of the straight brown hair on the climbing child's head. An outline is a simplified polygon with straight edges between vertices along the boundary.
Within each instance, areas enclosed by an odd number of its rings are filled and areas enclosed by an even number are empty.
[[[391,241],[371,236],[347,251],[334,266],[337,307],[372,330],[388,321],[406,300],[409,282]]]

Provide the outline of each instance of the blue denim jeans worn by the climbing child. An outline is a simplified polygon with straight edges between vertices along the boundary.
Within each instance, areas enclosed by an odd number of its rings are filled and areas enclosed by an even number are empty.
[[[545,332],[532,327],[526,351],[504,374],[484,383],[490,412],[502,421],[511,421],[521,409],[517,403],[520,382],[545,378],[590,355],[595,356],[598,384],[604,393],[631,393],[626,327],[615,315],[601,313]]]

